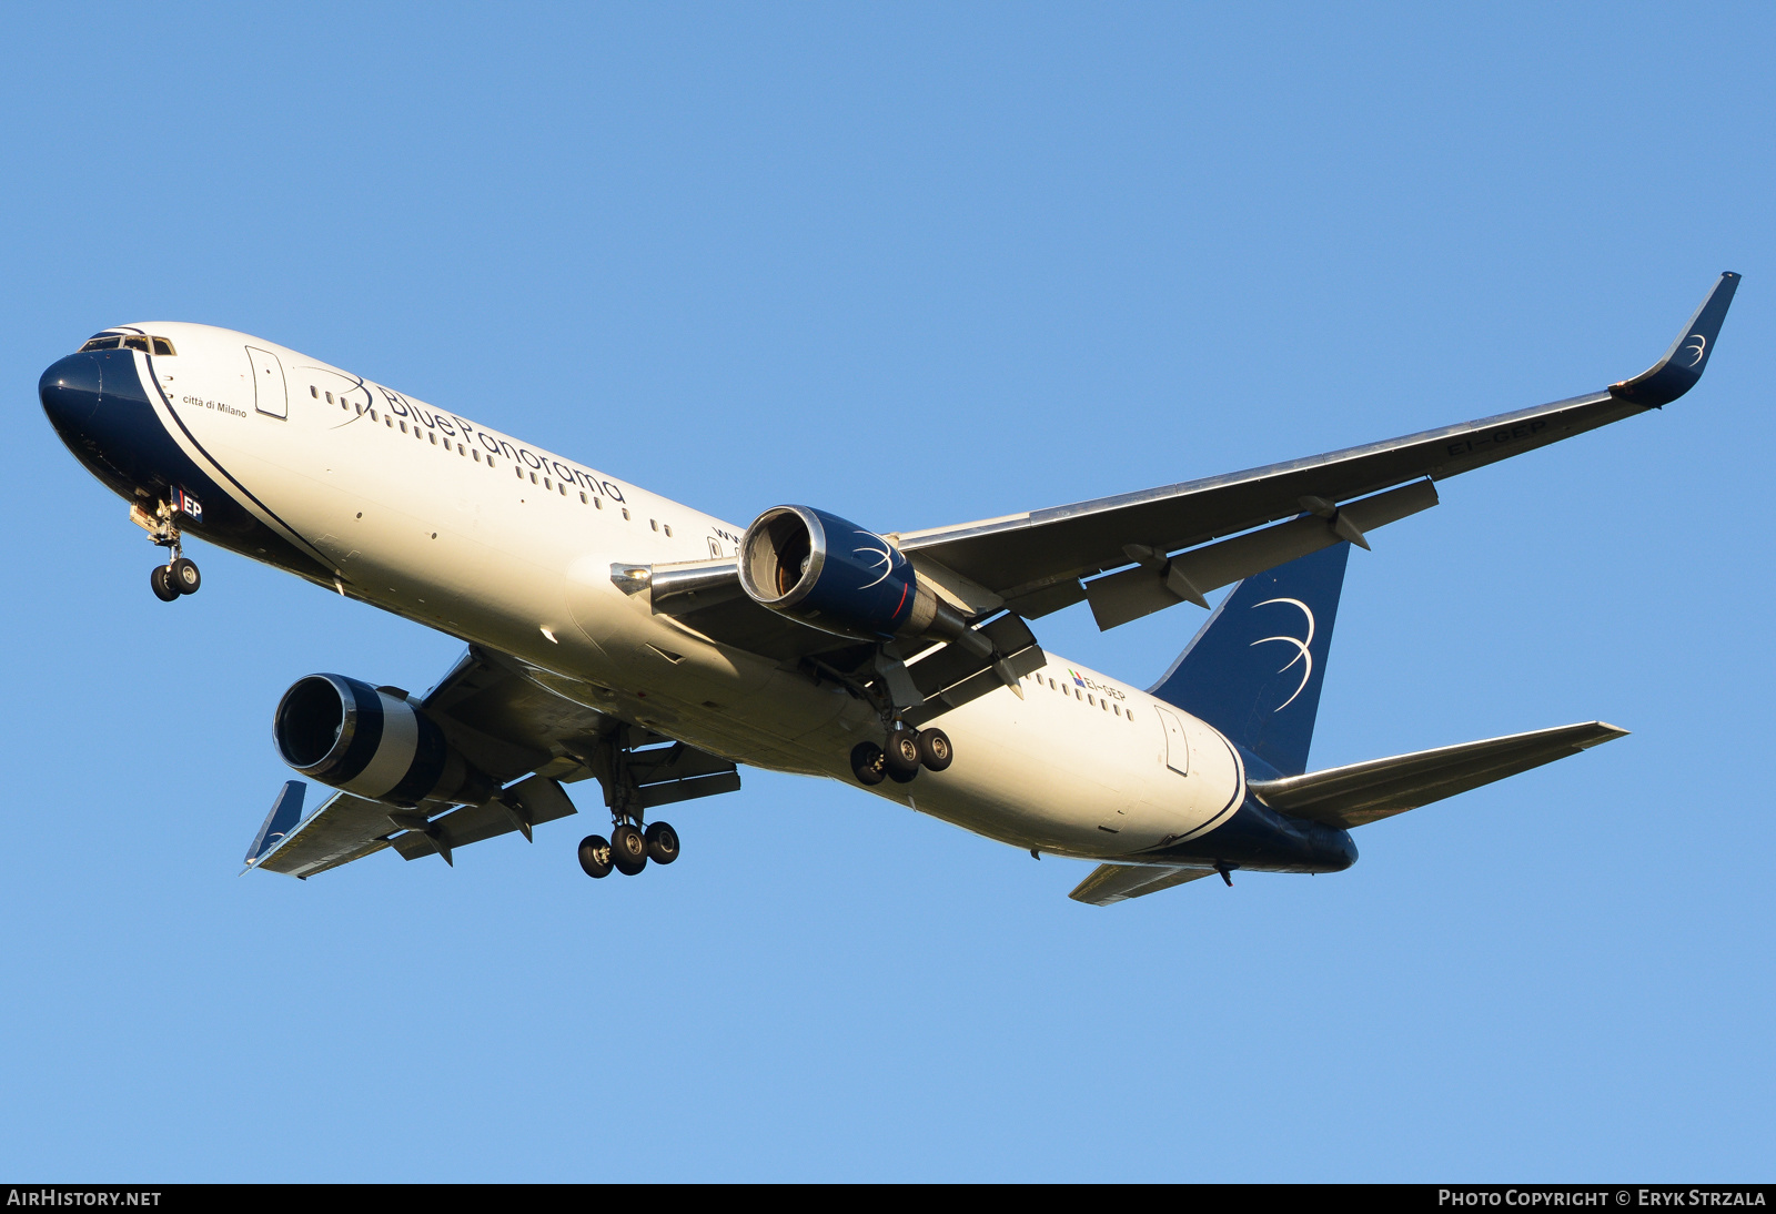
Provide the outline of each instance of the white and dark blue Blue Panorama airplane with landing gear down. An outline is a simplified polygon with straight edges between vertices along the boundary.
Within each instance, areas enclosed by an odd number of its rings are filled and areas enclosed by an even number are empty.
[[[1307,770],[1352,547],[1437,483],[1687,392],[1723,273],[1648,371],[1328,454],[924,531],[813,506],[737,527],[249,334],[107,328],[37,392],[67,449],[199,589],[185,540],[467,644],[423,696],[309,674],[274,712],[288,781],[242,870],[309,879],[455,852],[575,813],[590,877],[680,854],[652,811],[739,767],[852,783],[963,829],[1096,863],[1110,905],[1233,873],[1350,868],[1350,832],[1623,737],[1600,721]],[[1233,587],[1151,687],[1046,653],[1087,603],[1115,628]]]

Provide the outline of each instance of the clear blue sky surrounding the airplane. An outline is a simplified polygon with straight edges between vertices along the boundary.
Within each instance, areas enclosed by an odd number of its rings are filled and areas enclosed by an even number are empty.
[[[71,7],[0,48],[0,1173],[1767,1179],[1767,5]],[[744,524],[924,527],[1698,390],[1352,559],[1314,765],[1634,731],[1112,909],[746,772],[684,859],[588,813],[307,884],[240,854],[311,671],[458,642],[156,550],[39,371],[192,319]],[[1156,676],[1179,607],[1050,651]]]

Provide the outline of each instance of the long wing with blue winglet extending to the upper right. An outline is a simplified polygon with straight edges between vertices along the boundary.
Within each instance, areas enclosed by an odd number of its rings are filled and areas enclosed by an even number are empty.
[[[1005,605],[1021,616],[1041,616],[1092,598],[1099,625],[1114,627],[1174,602],[1201,600],[1202,591],[1273,568],[1312,548],[1302,547],[1304,536],[1288,538],[1273,527],[1272,532],[1279,534],[1270,543],[1249,543],[1250,552],[1222,554],[1238,557],[1218,563],[1225,566],[1217,570],[1217,577],[1225,575],[1222,580],[1208,573],[1199,577],[1188,557],[1169,561],[1169,554],[1304,511],[1323,520],[1316,532],[1323,541],[1318,547],[1339,538],[1362,543],[1364,524],[1348,515],[1341,518],[1352,509],[1353,499],[1391,486],[1410,488],[1410,483],[1424,477],[1440,481],[1675,401],[1707,367],[1737,286],[1737,273],[1723,273],[1664,359],[1632,380],[1598,392],[1305,460],[1027,515],[911,531],[895,540],[922,573],[940,584],[948,575],[952,586],[964,587],[964,595],[971,589],[982,607]],[[1369,501],[1369,509],[1376,515],[1369,525],[1378,525],[1433,504],[1435,493],[1426,499],[1419,492],[1417,497],[1398,499],[1380,511],[1375,509],[1376,499]],[[1296,531],[1312,525],[1311,518],[1300,520]],[[1247,540],[1241,536],[1217,548]],[[1101,579],[1094,584],[1098,593],[1080,584],[1080,579],[1130,564],[1137,568],[1128,575],[1115,575],[1126,584],[1110,586],[1115,577]],[[1172,584],[1162,591],[1160,586],[1167,580]],[[1153,603],[1138,609],[1146,600],[1142,593],[1130,600],[1130,586],[1144,591]],[[1105,609],[1099,609],[1099,598],[1105,600]]]

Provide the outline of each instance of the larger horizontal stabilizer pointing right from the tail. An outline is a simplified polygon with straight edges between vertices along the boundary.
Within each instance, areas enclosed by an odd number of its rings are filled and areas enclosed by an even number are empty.
[[[1591,721],[1252,781],[1250,790],[1272,809],[1348,831],[1627,735]]]

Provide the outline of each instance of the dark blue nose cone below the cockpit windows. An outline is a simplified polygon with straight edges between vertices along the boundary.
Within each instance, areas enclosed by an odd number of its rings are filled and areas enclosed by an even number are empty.
[[[67,449],[130,497],[169,483],[170,438],[142,389],[133,350],[92,350],[52,364],[37,380],[43,412]]]

